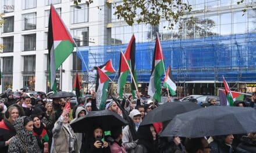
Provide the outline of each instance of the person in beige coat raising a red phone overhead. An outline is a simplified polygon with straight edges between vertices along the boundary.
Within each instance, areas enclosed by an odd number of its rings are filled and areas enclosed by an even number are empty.
[[[69,125],[69,105],[63,109],[58,121],[55,122],[54,129],[52,129],[52,147],[51,152],[74,152],[79,153],[79,145],[77,143],[76,135]]]

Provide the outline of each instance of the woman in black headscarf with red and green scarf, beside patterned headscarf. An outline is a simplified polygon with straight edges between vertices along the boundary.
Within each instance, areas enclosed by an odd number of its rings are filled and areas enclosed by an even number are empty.
[[[41,119],[37,115],[31,115],[31,119],[33,121],[33,135],[37,139],[38,146],[40,150],[44,153],[48,153],[48,141],[49,137],[47,131],[42,125]]]

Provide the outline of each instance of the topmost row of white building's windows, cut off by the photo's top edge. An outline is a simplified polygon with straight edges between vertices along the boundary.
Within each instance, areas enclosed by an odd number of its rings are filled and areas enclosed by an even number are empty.
[[[15,0],[1,0],[3,13],[13,12],[15,9]],[[45,0],[45,5],[61,3],[61,0]],[[32,9],[37,7],[37,0],[22,0],[22,9]]]

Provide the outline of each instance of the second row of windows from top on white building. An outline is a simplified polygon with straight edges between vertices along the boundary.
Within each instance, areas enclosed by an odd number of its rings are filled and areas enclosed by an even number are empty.
[[[61,8],[57,8],[56,11],[61,16]],[[5,23],[3,24],[2,32],[13,32],[14,31],[14,17],[5,17]],[[49,10],[45,10],[45,27],[48,27]],[[88,22],[88,5],[81,5],[81,9],[76,9],[71,6],[71,19],[70,23],[84,23]],[[22,15],[22,30],[34,30],[37,28],[37,13],[27,13]]]

